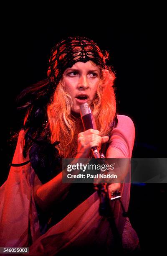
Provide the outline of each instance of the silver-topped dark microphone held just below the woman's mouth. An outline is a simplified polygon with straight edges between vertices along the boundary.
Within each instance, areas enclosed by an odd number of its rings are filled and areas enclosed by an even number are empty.
[[[79,105],[79,107],[80,107],[81,120],[83,123],[84,130],[85,131],[88,129],[96,130],[96,122],[94,119],[94,115],[91,112],[89,103],[85,102],[85,103]],[[92,150],[94,158],[100,158],[100,153],[99,153],[98,147],[96,147],[96,146],[92,147],[91,150]]]

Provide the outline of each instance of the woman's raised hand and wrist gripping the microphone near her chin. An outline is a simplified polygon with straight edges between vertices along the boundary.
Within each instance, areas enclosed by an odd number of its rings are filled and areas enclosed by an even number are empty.
[[[77,158],[88,158],[92,147],[101,148],[101,144],[109,140],[109,136],[99,136],[99,131],[94,129],[78,133]]]

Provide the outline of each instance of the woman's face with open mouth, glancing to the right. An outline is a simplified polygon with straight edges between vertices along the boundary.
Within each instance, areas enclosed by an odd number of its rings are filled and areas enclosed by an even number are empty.
[[[91,102],[95,95],[100,80],[100,68],[92,61],[76,62],[63,73],[63,82],[66,92],[71,95],[73,105],[71,110],[80,113],[79,105]]]

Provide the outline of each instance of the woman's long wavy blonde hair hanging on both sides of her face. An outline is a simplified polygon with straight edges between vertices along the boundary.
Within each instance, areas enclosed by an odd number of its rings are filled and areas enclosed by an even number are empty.
[[[114,93],[115,74],[111,69],[101,69],[96,96],[91,103],[100,135],[109,134],[111,123],[116,114]],[[61,102],[61,104],[60,104]],[[81,118],[71,115],[72,99],[65,91],[62,80],[59,81],[53,99],[47,108],[48,125],[51,131],[51,143],[60,141],[56,146],[61,157],[72,158],[77,153],[77,136],[83,131]]]

